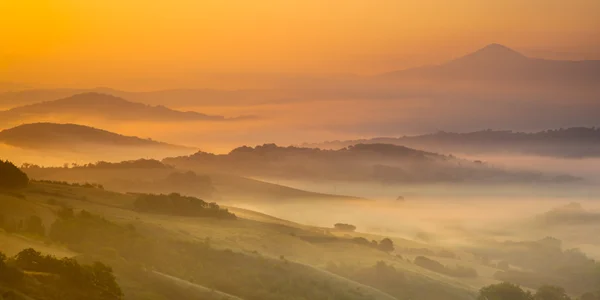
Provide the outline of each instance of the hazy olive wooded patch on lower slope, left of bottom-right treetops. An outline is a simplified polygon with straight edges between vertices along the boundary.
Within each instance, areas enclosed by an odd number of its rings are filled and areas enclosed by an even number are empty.
[[[445,285],[436,285],[430,280],[418,280],[414,274],[404,273],[383,261],[374,266],[359,267],[347,264],[328,263],[327,270],[353,281],[372,286],[392,295],[398,300],[459,300],[465,294],[457,293]],[[337,298],[336,298],[337,299]]]

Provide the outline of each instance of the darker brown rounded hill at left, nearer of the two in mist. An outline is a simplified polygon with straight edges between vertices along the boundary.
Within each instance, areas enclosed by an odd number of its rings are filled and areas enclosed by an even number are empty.
[[[113,148],[180,151],[191,149],[149,139],[124,136],[88,126],[55,123],[25,124],[0,131],[0,143],[24,149],[48,151],[95,148],[98,151],[107,151],[107,153]]]

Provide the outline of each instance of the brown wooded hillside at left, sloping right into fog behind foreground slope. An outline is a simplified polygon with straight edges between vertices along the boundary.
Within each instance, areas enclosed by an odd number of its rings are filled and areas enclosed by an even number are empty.
[[[172,193],[231,202],[318,202],[357,201],[357,197],[330,195],[294,189],[223,173],[194,173],[164,165],[156,160],[136,160],[121,163],[99,162],[72,168],[23,169],[37,180],[94,182],[119,192]]]

